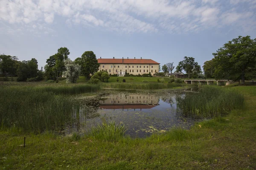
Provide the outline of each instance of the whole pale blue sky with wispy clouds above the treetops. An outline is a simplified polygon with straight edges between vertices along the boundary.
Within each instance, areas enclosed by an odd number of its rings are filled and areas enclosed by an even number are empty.
[[[256,0],[0,0],[0,54],[39,68],[60,47],[203,66],[240,35],[256,38]]]

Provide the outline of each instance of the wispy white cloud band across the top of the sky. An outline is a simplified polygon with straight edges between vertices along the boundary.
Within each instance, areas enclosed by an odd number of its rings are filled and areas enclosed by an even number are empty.
[[[239,8],[239,3],[247,6]],[[256,0],[0,0],[0,21],[40,29],[37,24],[50,26],[55,18],[63,17],[68,26],[185,33],[233,23],[241,26],[245,20],[254,23],[254,7]]]

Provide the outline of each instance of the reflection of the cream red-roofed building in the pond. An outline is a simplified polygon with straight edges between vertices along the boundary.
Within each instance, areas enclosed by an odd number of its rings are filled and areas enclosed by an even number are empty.
[[[151,109],[159,105],[160,96],[153,94],[111,94],[99,101],[101,109]]]

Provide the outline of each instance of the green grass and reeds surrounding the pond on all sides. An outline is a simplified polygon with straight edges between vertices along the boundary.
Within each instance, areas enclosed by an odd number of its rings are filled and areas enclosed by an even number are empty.
[[[0,169],[256,168],[256,86],[205,85],[200,92],[180,98],[178,105],[187,114],[212,119],[195,123],[189,130],[175,127],[131,139],[125,135],[125,126],[117,122],[95,125],[86,135],[61,136],[52,131],[73,121],[70,114],[77,113],[74,106],[79,108],[80,103],[70,95],[101,88],[184,88],[184,82],[129,79],[125,83],[62,85],[62,81],[1,84]],[[26,147],[20,146],[24,136]]]

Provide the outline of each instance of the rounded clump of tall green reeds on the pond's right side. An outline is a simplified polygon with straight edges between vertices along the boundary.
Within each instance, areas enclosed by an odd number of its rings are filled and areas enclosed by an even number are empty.
[[[244,106],[244,97],[231,89],[204,87],[198,93],[177,98],[177,107],[195,116],[221,116]]]

